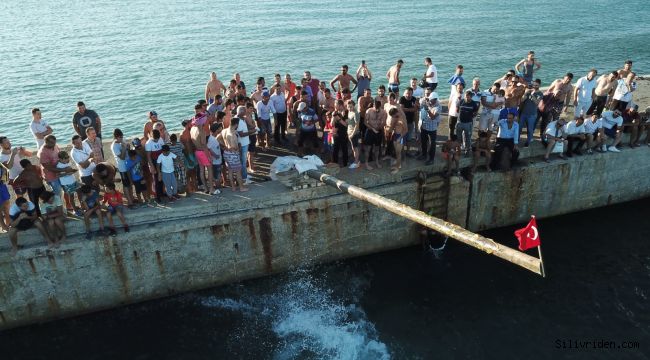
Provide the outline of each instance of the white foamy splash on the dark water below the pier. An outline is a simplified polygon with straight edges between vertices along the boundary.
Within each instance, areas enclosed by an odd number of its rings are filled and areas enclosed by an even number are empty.
[[[324,282],[299,270],[271,294],[243,294],[238,299],[210,296],[201,303],[268,321],[278,340],[274,359],[390,359],[374,324],[356,304],[360,282],[346,284],[349,296],[335,294]]]

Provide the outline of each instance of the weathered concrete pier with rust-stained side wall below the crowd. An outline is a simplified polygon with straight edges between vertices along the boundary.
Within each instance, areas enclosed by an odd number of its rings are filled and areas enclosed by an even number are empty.
[[[430,167],[408,160],[398,175],[343,169],[337,177],[473,231],[650,196],[648,147],[551,163],[540,151],[522,149],[524,166],[471,181],[440,176],[440,158]],[[92,240],[80,220],[68,221],[71,238],[56,250],[34,231],[20,233],[16,257],[0,235],[0,329],[419,242],[415,224],[384,210],[329,187],[292,191],[278,182],[127,218],[130,233]],[[514,247],[514,238],[497,240]]]

